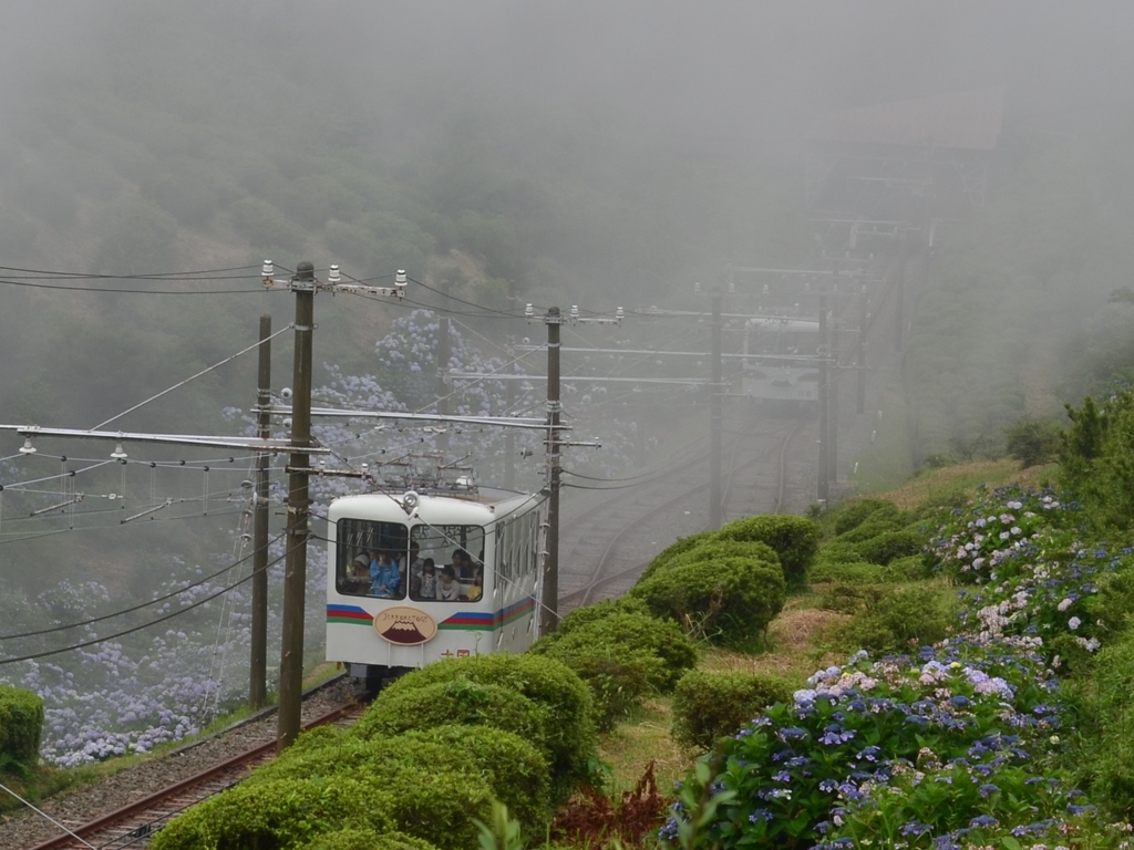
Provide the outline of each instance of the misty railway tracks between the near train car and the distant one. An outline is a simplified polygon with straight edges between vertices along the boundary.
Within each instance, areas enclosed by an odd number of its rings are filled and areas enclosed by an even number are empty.
[[[722,505],[726,519],[784,510],[790,484],[793,437],[802,428],[789,423],[770,431],[735,432],[726,451],[730,459]],[[701,496],[709,487],[708,452],[687,457],[665,476],[669,484],[696,470],[701,481],[676,495],[666,487],[652,487],[635,495],[604,500],[573,519],[560,539],[572,541],[560,555],[560,612],[617,596],[627,590],[660,549],[677,537],[703,530],[708,524]],[[652,482],[651,479],[648,479]]]

